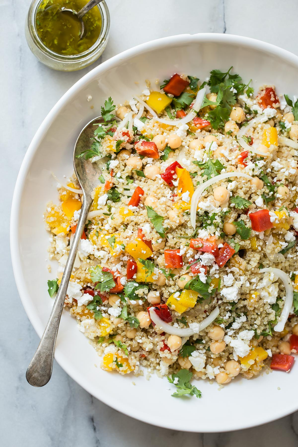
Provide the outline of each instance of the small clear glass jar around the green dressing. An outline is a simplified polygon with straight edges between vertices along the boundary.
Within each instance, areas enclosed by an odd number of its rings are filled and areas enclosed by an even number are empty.
[[[102,55],[108,42],[110,28],[109,9],[105,1],[94,6],[94,8],[99,8],[101,13],[102,26],[99,38],[87,51],[77,55],[60,55],[51,51],[41,41],[35,25],[36,12],[41,3],[42,0],[32,1],[25,22],[25,36],[27,43],[32,53],[40,60],[40,62],[55,70],[72,72],[87,67]]]

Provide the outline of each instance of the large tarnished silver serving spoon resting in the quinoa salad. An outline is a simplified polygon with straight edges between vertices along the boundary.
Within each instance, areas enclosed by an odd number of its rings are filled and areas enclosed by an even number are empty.
[[[120,121],[119,118],[116,117],[115,120]],[[81,131],[79,138],[76,140],[75,149],[73,151],[73,165],[76,177],[83,190],[83,205],[50,318],[47,322],[46,329],[42,334],[36,353],[26,371],[26,379],[29,384],[34,387],[42,387],[43,385],[46,385],[52,375],[55,343],[67,287],[75,262],[76,252],[87,221],[88,212],[92,204],[91,193],[92,190],[98,186],[98,177],[102,173],[97,163],[91,163],[90,160],[85,160],[84,157],[77,158],[77,156],[84,150],[90,148],[90,142],[92,141],[92,137],[94,137],[94,125],[102,122],[103,119],[101,117],[92,119],[92,121],[88,122]]]

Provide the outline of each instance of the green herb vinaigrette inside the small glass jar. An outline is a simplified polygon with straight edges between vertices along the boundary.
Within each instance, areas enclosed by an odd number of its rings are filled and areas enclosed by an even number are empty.
[[[62,8],[79,12],[85,0],[43,0],[35,16],[36,30],[43,44],[60,55],[77,55],[91,48],[101,34],[101,13],[97,6],[84,15],[85,32],[80,39],[80,20],[61,12]]]

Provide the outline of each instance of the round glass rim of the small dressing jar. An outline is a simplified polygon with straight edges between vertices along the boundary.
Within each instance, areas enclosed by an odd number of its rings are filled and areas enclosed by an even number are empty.
[[[28,12],[28,29],[29,33],[31,35],[31,38],[33,39],[35,45],[38,46],[40,51],[42,51],[45,55],[51,56],[52,59],[67,63],[67,62],[75,62],[77,60],[84,60],[91,57],[97,49],[101,48],[101,43],[105,41],[105,39],[109,35],[109,28],[110,28],[110,16],[109,16],[109,9],[107,7],[107,4],[105,1],[101,1],[101,3],[97,4],[97,8],[99,9],[101,13],[101,32],[98,36],[97,41],[90,47],[88,50],[83,51],[82,53],[78,53],[76,55],[61,55],[59,53],[56,53],[55,51],[50,50],[41,40],[41,38],[38,35],[37,29],[36,29],[36,13],[38,10],[39,5],[42,3],[43,0],[33,0],[29,7]]]

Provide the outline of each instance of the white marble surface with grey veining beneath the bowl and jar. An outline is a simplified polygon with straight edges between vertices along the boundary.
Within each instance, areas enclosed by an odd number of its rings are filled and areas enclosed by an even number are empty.
[[[4,305],[1,318],[0,444],[4,447],[297,446],[298,413],[233,433],[187,434],[153,428],[110,409],[80,388],[56,363],[46,387],[35,389],[27,384],[25,370],[38,337],[22,308],[11,268],[8,224],[13,187],[26,148],[43,118],[62,94],[95,66],[62,73],[40,64],[30,53],[24,37],[29,2],[0,0],[1,17],[5,17],[0,28],[1,297],[2,302],[9,303],[9,308]],[[294,19],[298,14],[297,0],[107,0],[107,3],[111,32],[102,61],[153,38],[197,32],[241,34],[298,53]],[[274,405],[262,402],[261,396],[252,398],[256,399],[259,412]],[[156,411],[160,411],[162,418],[162,410]],[[214,403],[214,415],[220,417],[222,411]]]

